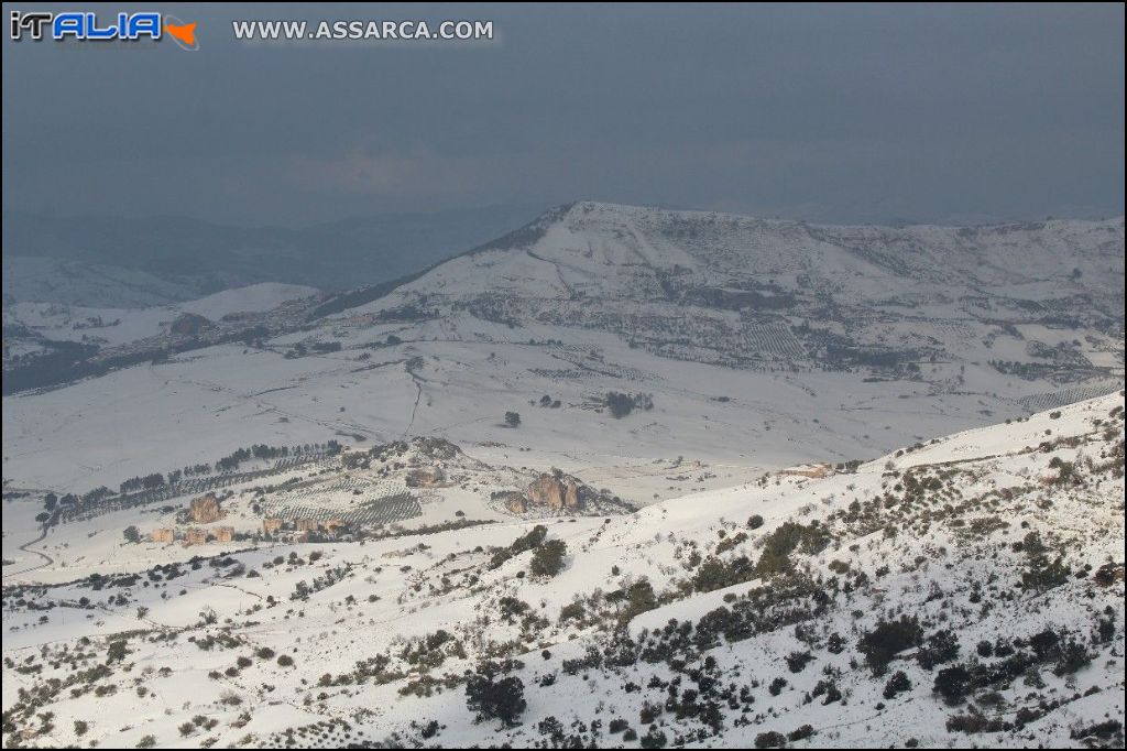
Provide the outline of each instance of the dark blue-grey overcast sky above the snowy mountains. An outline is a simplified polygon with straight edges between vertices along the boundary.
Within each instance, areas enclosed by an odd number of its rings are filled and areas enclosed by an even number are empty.
[[[287,226],[574,200],[845,222],[1124,211],[1119,3],[101,9],[196,20],[201,48],[6,30],[6,210]],[[491,19],[498,38],[255,45],[232,18]]]

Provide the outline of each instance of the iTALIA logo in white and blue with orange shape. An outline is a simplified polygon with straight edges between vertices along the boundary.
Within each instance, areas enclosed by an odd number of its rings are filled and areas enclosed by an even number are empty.
[[[14,42],[45,38],[55,42],[137,42],[149,39],[160,42],[165,34],[181,50],[198,50],[196,24],[188,24],[176,16],[152,11],[119,12],[110,18],[100,18],[94,12],[32,12],[11,11],[11,38]]]

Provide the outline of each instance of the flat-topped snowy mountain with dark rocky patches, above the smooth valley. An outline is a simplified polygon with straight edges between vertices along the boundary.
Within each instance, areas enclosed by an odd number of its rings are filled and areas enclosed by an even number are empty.
[[[396,307],[753,369],[1005,360],[1091,376],[1122,366],[1124,220],[816,227],[578,203],[365,309]]]

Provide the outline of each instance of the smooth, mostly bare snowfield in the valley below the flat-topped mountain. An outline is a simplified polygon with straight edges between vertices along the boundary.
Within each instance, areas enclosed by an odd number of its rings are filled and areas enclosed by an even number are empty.
[[[522,342],[433,341],[373,350],[367,360],[357,351],[290,360],[237,345],[179,355],[6,398],[6,479],[82,493],[251,443],[352,442],[354,435],[442,435],[471,452],[479,444],[490,452],[497,443],[512,452],[531,448],[542,452],[543,466],[577,470],[678,456],[762,469],[867,458],[1027,412],[982,392],[931,396],[923,385],[864,383],[850,374],[734,371],[620,348],[606,335],[588,343],[566,360],[552,347]],[[408,371],[415,357],[421,361]],[[577,373],[554,377],[561,368]],[[638,373],[625,386],[654,394],[650,412],[615,419],[595,410],[603,394],[623,386],[612,368]],[[543,395],[561,406],[529,405]],[[522,416],[516,430],[503,424],[508,410]],[[68,461],[57,461],[60,454]]]

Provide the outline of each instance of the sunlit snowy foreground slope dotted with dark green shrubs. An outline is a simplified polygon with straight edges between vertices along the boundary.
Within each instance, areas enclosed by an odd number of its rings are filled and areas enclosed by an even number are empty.
[[[539,524],[8,586],[6,745],[1122,746],[1121,391]]]

